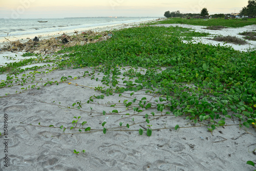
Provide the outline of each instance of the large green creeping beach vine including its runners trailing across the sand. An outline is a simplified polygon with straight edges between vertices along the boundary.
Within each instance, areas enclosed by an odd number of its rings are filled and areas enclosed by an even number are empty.
[[[196,22],[193,19],[190,21]],[[1,81],[0,89],[11,85],[22,86],[23,92],[32,87],[60,84],[86,87],[92,89],[94,95],[86,97],[84,101],[73,101],[70,104],[41,102],[56,105],[60,109],[87,113],[89,119],[103,115],[120,117],[116,120],[116,126],[108,124],[106,128],[107,121],[100,122],[103,129],[100,125],[84,128],[90,121],[81,122],[80,116],[73,117],[69,126],[45,126],[49,129],[61,129],[61,135],[93,132],[106,134],[106,131],[139,131],[139,135],[143,135],[145,131],[147,136],[154,136],[155,131],[160,129],[178,130],[193,126],[204,126],[206,131],[214,134],[222,126],[229,126],[230,120],[237,120],[238,127],[254,129],[255,49],[241,52],[229,46],[193,43],[193,37],[208,35],[182,27],[142,26],[113,30],[113,36],[107,41],[68,47],[56,53],[53,59],[45,57],[44,60],[39,60],[47,64],[44,72],[35,68],[36,71],[29,74],[8,75]],[[42,56],[37,56],[36,59],[41,58]],[[18,66],[38,60],[31,58],[24,61],[10,63],[9,67],[19,68]],[[48,65],[49,62],[53,64]],[[71,68],[84,71],[76,77],[60,76],[57,82],[35,79],[40,74]],[[5,72],[5,69],[2,71]],[[98,86],[88,87],[74,83],[76,79],[85,78],[98,81]],[[40,82],[43,83],[36,84]],[[142,96],[138,96],[139,92],[142,92]],[[101,103],[102,99],[113,95],[116,101]],[[91,106],[104,105],[108,110],[97,111],[95,107],[89,108],[89,103]],[[156,121],[164,117],[184,118],[193,126],[175,124],[174,127],[167,123],[158,126]],[[123,126],[124,123],[126,126]]]

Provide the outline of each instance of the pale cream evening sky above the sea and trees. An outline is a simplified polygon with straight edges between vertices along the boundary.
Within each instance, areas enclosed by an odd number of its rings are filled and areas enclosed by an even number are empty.
[[[247,0],[0,0],[0,18],[164,17],[165,11],[238,13]]]

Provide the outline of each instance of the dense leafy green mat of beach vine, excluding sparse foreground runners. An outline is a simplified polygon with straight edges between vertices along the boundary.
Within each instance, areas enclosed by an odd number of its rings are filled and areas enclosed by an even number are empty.
[[[102,94],[145,89],[145,93],[161,95],[161,100],[166,101],[157,106],[158,111],[168,109],[175,116],[185,116],[195,123],[207,121],[210,132],[225,125],[225,119],[237,118],[240,126],[254,126],[256,51],[182,42],[205,35],[180,27],[136,27],[113,31],[108,41],[63,49],[58,52],[61,60],[42,56],[27,60],[54,62],[58,69],[93,67],[105,75],[101,80],[104,88],[96,88]],[[133,69],[121,74],[125,66]],[[146,69],[145,74],[137,72],[139,67]],[[1,71],[5,72],[5,67]],[[118,87],[121,77],[135,81],[125,80],[122,82],[125,88]],[[11,84],[9,75],[0,88]],[[138,107],[141,105],[143,109],[141,103]]]

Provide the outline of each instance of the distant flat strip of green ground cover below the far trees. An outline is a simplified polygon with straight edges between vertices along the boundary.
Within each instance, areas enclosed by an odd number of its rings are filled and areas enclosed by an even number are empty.
[[[224,27],[244,27],[248,25],[256,25],[256,18],[250,18],[247,20],[242,19],[184,19],[184,18],[168,18],[155,24],[187,24],[194,26],[224,26]]]

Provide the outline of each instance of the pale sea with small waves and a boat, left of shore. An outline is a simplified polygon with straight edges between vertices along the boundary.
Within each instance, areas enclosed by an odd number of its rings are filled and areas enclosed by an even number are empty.
[[[8,40],[33,38],[74,30],[90,30],[106,26],[139,23],[158,19],[158,17],[79,17],[79,18],[38,18],[1,19],[0,43]],[[39,23],[43,22],[43,23]]]

